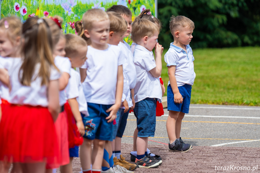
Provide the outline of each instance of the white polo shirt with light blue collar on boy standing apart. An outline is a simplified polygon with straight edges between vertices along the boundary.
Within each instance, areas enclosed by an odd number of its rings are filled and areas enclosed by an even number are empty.
[[[184,84],[193,85],[196,77],[193,65],[193,51],[190,45],[186,45],[186,51],[173,45],[172,42],[169,50],[164,55],[164,61],[167,63],[167,67],[176,66],[175,77],[177,86],[182,86]],[[168,82],[168,85],[170,85],[170,81]]]

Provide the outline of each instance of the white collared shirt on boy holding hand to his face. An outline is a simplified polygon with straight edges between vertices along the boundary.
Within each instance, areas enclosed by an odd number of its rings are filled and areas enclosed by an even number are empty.
[[[133,63],[136,67],[136,86],[134,100],[139,102],[145,98],[157,98],[161,103],[162,91],[160,79],[155,78],[150,70],[156,67],[153,53],[145,47],[136,44],[133,53]]]

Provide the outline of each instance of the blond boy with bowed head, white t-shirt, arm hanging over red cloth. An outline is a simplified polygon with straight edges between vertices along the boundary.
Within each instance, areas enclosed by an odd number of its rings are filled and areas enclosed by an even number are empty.
[[[76,119],[78,130],[83,136],[85,133],[84,125],[81,116],[89,116],[87,111],[87,103],[84,97],[83,88],[80,82],[80,74],[74,70],[74,68],[81,67],[86,61],[87,57],[87,44],[84,39],[73,34],[65,35],[66,57],[71,62],[70,79],[68,85],[65,88],[66,97],[70,105],[73,116]],[[70,151],[70,163],[64,166],[64,169],[68,173],[72,173],[72,160],[73,157],[79,157],[79,147],[75,146],[69,149]]]

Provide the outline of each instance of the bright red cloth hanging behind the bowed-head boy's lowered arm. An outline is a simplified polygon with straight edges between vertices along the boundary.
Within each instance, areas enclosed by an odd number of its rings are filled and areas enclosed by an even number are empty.
[[[75,118],[71,112],[70,105],[68,102],[65,103],[64,109],[67,113],[69,148],[80,146],[83,143],[83,137],[81,137],[80,135],[80,132],[76,125]]]

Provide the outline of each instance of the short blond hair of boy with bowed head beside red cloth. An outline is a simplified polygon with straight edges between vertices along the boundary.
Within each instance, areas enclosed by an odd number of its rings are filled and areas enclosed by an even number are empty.
[[[65,57],[72,58],[73,55],[77,54],[77,50],[79,47],[88,46],[86,41],[80,36],[74,34],[66,34],[65,38],[66,38]]]

